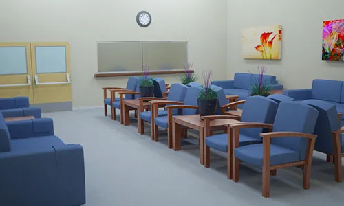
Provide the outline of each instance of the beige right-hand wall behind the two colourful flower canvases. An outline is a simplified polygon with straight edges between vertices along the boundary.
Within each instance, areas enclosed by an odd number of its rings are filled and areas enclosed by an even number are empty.
[[[323,20],[344,19],[343,0],[228,0],[228,79],[266,65],[287,89],[310,88],[314,78],[344,80],[344,62],[321,60]],[[281,60],[241,58],[241,30],[282,25]]]

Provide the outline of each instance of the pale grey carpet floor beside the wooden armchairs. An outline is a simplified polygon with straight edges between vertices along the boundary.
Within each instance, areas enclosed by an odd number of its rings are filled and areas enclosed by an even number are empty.
[[[287,168],[271,177],[271,197],[263,198],[259,168],[241,165],[240,181],[233,183],[223,154],[212,152],[211,168],[204,168],[197,146],[169,150],[164,130],[155,143],[148,124],[138,134],[136,119],[121,126],[119,117],[111,121],[103,109],[44,116],[54,119],[55,133],[66,144],[84,148],[87,206],[344,205],[344,182],[334,182],[334,165],[320,153],[314,154],[310,190],[302,189],[300,169]]]

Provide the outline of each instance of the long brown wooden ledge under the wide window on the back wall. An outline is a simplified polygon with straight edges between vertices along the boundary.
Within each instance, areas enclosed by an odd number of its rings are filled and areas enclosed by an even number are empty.
[[[194,70],[190,70],[194,73]],[[184,69],[166,70],[166,71],[149,71],[149,75],[159,75],[159,74],[176,74],[185,73]],[[95,78],[100,77],[116,77],[116,76],[143,76],[143,71],[119,71],[119,72],[99,72],[94,73]]]

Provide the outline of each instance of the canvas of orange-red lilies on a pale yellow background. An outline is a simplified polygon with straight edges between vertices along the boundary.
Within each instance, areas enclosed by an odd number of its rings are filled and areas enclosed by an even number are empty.
[[[281,59],[281,25],[245,29],[241,38],[242,58]]]

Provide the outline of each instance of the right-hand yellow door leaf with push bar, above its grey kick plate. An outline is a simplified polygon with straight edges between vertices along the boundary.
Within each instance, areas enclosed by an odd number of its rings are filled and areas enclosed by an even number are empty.
[[[69,43],[31,43],[34,103],[72,102]]]

